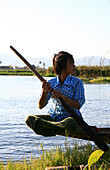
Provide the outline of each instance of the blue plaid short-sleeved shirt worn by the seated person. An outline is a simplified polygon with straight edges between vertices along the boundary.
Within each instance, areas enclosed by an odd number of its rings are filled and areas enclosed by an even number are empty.
[[[51,87],[55,90],[60,91],[64,96],[73,99],[78,100],[80,104],[80,108],[85,103],[85,95],[84,95],[84,87],[82,80],[73,76],[68,76],[63,84],[60,84],[59,76],[52,78],[48,81],[51,84]],[[61,105],[60,101],[56,98],[52,98],[52,93],[49,92],[46,98],[46,103],[52,99],[54,105],[51,106],[48,113],[53,118],[53,121],[61,121],[66,117],[69,117],[70,115],[68,112],[64,109],[64,107]],[[71,107],[71,106],[70,106]],[[79,116],[81,116],[81,113],[78,109],[73,108],[73,111],[75,111]]]

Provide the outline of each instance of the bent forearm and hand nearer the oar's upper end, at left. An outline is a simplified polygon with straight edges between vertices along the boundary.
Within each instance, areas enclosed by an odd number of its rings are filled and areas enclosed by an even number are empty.
[[[52,90],[52,87],[50,86],[50,84],[44,81],[42,84],[42,94],[38,102],[39,109],[42,109],[45,106],[47,95],[51,90]]]

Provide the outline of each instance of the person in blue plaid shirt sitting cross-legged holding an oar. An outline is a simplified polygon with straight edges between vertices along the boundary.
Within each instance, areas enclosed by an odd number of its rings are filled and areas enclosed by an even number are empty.
[[[55,54],[53,69],[57,77],[43,82],[38,106],[42,109],[50,98],[52,98],[54,106],[50,108],[49,115],[28,116],[26,124],[36,134],[43,136],[65,135],[66,129],[68,132],[82,131],[59,101],[59,97],[61,97],[73,111],[81,116],[79,109],[85,102],[84,87],[81,79],[71,76],[75,72],[73,56],[64,51]]]

